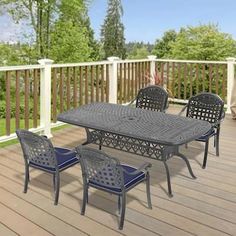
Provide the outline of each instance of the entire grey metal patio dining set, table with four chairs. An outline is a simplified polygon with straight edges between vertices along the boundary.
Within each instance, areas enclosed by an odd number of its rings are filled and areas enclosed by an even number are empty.
[[[213,93],[201,93],[189,99],[180,114],[167,114],[168,93],[160,86],[141,89],[129,105],[95,102],[71,109],[58,116],[58,121],[85,128],[87,139],[73,150],[54,147],[46,136],[27,130],[17,130],[25,162],[24,192],[29,183],[29,167],[53,175],[54,204],[58,204],[60,172],[76,164],[81,165],[83,178],[83,203],[85,214],[89,187],[118,196],[119,229],[123,228],[126,193],[146,182],[147,203],[152,208],[149,162],[139,168],[111,157],[102,147],[109,147],[145,158],[161,161],[164,165],[168,195],[173,196],[168,160],[180,157],[196,178],[188,158],[180,152],[180,146],[196,140],[205,143],[202,168],[206,168],[208,146],[214,138],[216,155],[219,156],[220,125],[224,119],[224,102]],[[186,112],[185,112],[186,111]],[[185,116],[183,113],[185,112]],[[86,146],[96,144],[98,149]]]

